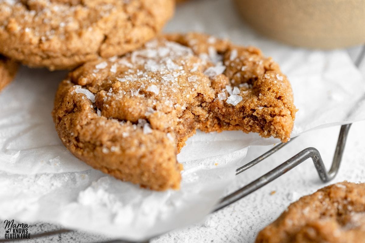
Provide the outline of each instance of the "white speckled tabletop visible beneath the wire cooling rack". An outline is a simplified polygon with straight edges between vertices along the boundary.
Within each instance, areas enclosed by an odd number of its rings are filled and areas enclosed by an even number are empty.
[[[237,176],[234,184],[228,191],[249,183],[266,171],[274,168],[285,159],[293,156],[300,150],[313,146],[319,149],[322,158],[328,168],[332,160],[339,127],[326,128],[303,134],[292,144],[280,150],[272,157],[258,164],[249,171]],[[365,181],[365,152],[364,138],[365,122],[357,122],[351,127],[347,140],[343,162],[338,176],[333,182],[349,180],[353,182]],[[272,148],[269,146],[255,146],[250,148],[247,157],[242,164],[261,155]],[[237,203],[214,213],[202,220],[200,223],[187,228],[176,230],[152,240],[153,243],[204,243],[204,242],[242,242],[251,243],[261,228],[272,222],[292,201],[300,196],[312,193],[322,188],[317,172],[311,162],[307,160],[286,175],[273,181],[269,185],[252,193]],[[270,195],[276,191],[274,195]],[[59,226],[49,224],[37,224],[31,228],[31,232],[43,232],[59,229]],[[3,235],[3,228],[0,227],[0,235]],[[30,242],[101,242],[110,240],[103,236],[85,234],[83,232],[72,232],[57,236],[50,236]]]

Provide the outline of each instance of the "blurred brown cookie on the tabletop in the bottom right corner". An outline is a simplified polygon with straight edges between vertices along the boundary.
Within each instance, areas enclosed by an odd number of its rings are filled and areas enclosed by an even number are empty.
[[[337,183],[304,196],[262,230],[256,243],[365,242],[365,184]]]

